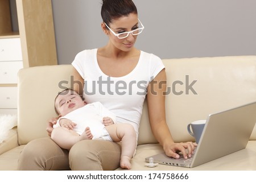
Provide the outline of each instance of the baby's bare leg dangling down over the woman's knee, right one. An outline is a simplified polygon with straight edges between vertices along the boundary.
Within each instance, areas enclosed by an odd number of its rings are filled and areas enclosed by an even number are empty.
[[[118,123],[106,126],[106,130],[114,142],[122,141],[120,167],[131,169],[130,160],[133,158],[137,146],[136,134],[133,126],[128,123]]]

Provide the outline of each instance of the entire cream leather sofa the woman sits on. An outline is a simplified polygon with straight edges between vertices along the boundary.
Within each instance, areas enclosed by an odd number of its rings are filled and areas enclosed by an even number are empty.
[[[187,133],[188,123],[256,100],[256,56],[165,59],[163,63],[171,91],[166,96],[166,118],[176,142],[193,140]],[[16,170],[24,146],[33,139],[47,137],[46,121],[56,115],[53,100],[72,82],[71,71],[71,65],[19,71],[18,126],[0,144],[0,170]],[[256,170],[256,129],[245,150],[191,169],[145,167],[144,158],[159,152],[162,147],[151,133],[145,102],[132,170]]]

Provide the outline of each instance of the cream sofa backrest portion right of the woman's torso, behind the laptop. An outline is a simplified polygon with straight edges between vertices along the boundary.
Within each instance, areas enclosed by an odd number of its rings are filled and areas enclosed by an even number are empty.
[[[256,101],[256,56],[164,59],[167,74],[166,120],[176,142],[195,141],[188,123]],[[256,140],[254,127],[251,140]],[[144,107],[139,144],[154,143]]]

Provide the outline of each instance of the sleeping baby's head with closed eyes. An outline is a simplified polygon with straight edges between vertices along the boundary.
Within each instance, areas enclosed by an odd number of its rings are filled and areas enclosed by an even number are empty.
[[[85,105],[82,97],[71,88],[59,92],[55,98],[55,111],[59,116],[64,116]]]

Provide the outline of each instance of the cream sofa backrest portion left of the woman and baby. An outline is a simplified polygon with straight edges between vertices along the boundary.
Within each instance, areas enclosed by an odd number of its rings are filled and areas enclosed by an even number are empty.
[[[56,117],[54,100],[71,82],[71,65],[20,69],[18,73],[18,141],[47,137],[46,123]]]

